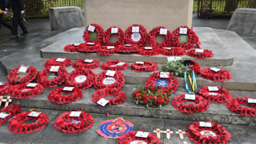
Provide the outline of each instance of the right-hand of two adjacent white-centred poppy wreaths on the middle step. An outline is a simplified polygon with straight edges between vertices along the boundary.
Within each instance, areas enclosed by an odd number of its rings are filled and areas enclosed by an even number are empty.
[[[120,89],[123,84],[125,84],[125,76],[123,76],[123,73],[115,71],[114,76],[107,76],[107,71],[100,72],[95,76],[94,87],[97,89],[105,87]]]

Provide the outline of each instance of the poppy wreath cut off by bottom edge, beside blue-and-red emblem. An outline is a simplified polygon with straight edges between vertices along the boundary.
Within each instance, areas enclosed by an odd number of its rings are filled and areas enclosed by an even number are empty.
[[[146,132],[143,130],[140,130],[142,132]],[[151,134],[149,132],[147,138],[141,138],[135,136],[138,131],[131,131],[128,132],[118,138],[118,142],[116,144],[123,144],[123,143],[131,143],[131,142],[140,142],[140,143],[148,143],[148,144],[160,144],[161,141],[158,140],[158,137],[155,136],[155,134]]]

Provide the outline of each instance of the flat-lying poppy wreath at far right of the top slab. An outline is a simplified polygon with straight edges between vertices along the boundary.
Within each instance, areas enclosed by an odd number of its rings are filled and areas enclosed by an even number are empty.
[[[203,53],[196,52],[196,49],[189,49],[186,55],[200,59],[214,57],[213,51],[207,49],[203,49]]]

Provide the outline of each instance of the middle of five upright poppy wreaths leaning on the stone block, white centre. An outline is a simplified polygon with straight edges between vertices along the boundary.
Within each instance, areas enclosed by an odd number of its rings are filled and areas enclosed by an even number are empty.
[[[126,29],[125,40],[129,45],[144,46],[148,40],[147,29],[142,25],[133,24]]]

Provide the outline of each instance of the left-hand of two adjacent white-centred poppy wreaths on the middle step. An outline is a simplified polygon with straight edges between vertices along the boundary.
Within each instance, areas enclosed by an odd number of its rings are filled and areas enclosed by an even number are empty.
[[[68,73],[67,86],[81,88],[82,90],[92,87],[94,83],[95,73],[90,69],[75,69]]]

